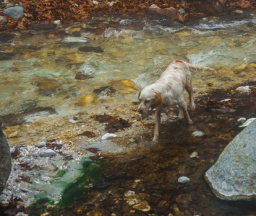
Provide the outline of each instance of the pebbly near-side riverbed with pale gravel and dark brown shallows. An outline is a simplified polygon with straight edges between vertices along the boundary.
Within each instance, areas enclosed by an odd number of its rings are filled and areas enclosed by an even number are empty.
[[[247,210],[240,204],[236,206],[237,202],[224,203],[220,209],[214,207],[221,201],[210,194],[202,176],[239,132],[241,123],[237,119],[255,114],[252,107],[255,104],[254,85],[249,86],[248,92],[241,93],[233,88],[214,92],[211,100],[206,96],[197,99],[197,110],[191,112],[195,122],[192,127],[176,122],[176,109],[166,111],[161,145],[150,142],[153,116],[142,119],[135,112],[136,103],[123,104],[123,109],[103,115],[80,113],[69,118],[56,117],[56,114],[39,117],[41,113],[38,112],[33,114],[34,122],[5,127],[12,147],[13,168],[1,194],[1,210],[7,215],[11,210],[30,214],[47,212],[48,215],[66,212],[67,205],[60,207],[58,202],[63,199],[61,196],[68,183],[78,181],[75,179],[81,176],[83,161],[92,160],[90,164],[108,165],[104,166],[105,171],[98,171],[101,179],[95,182],[90,179],[87,183],[87,194],[69,206],[71,215],[86,212],[88,215],[124,212],[128,215],[135,212],[207,215],[208,211],[226,215],[226,207],[234,215],[241,215],[241,211],[248,215],[255,210],[250,202],[244,204]],[[116,130],[117,136],[102,140],[110,128],[108,124],[114,120],[125,120],[129,127],[115,129],[114,126],[112,130]],[[43,154],[47,149],[48,156]],[[94,161],[99,159],[103,162]],[[11,207],[12,195],[17,198]],[[53,201],[43,202],[43,209],[30,205],[43,198]]]

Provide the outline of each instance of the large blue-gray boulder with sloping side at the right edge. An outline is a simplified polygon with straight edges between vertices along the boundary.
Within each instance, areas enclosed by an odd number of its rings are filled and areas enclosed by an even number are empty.
[[[256,198],[256,120],[226,146],[205,180],[221,199]]]

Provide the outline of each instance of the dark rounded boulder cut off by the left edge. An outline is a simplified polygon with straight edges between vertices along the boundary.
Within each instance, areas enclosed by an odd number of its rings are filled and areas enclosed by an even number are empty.
[[[12,158],[9,145],[4,136],[4,132],[0,128],[0,194],[4,190],[4,186],[7,183],[11,170]]]

